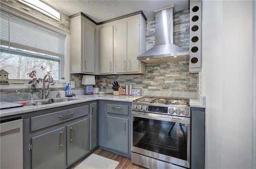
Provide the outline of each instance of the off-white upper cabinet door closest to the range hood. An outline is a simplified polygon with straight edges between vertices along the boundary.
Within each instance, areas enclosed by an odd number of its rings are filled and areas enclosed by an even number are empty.
[[[140,19],[127,22],[127,72],[139,72],[140,61]]]

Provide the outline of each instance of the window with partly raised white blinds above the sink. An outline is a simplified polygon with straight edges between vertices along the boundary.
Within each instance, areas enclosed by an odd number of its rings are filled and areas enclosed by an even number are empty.
[[[0,67],[10,73],[9,79],[30,79],[27,73],[34,67],[37,77],[43,78],[46,71],[54,80],[62,77],[64,35],[1,13],[0,40]]]

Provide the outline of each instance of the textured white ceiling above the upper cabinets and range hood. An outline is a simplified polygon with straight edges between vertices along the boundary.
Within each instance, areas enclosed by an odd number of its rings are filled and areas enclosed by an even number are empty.
[[[83,12],[95,22],[103,22],[142,10],[154,18],[154,10],[174,4],[175,11],[188,9],[188,0],[42,0],[68,16]]]

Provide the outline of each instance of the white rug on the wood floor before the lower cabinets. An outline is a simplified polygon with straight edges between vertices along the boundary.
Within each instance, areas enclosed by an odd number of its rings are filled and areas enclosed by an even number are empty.
[[[97,154],[91,154],[75,169],[115,169],[118,164],[118,161]]]

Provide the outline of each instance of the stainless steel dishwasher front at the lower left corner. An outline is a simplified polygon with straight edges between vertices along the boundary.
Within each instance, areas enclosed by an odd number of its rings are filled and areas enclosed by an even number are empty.
[[[0,124],[0,168],[23,168],[23,119]]]

